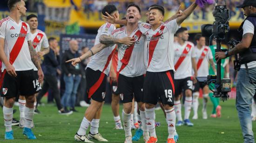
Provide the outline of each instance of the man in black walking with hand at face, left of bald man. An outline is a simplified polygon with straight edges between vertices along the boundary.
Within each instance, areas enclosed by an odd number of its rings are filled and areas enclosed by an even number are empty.
[[[49,88],[52,90],[52,94],[54,100],[57,104],[59,113],[62,115],[69,115],[72,114],[73,111],[64,110],[61,106],[61,97],[60,97],[60,90],[58,88],[58,79],[57,79],[57,66],[60,65],[60,52],[58,49],[58,41],[55,38],[49,38],[49,47],[50,52],[44,55],[43,65],[45,67],[45,77],[44,77],[44,84],[42,90],[39,92],[37,96],[37,103],[40,102],[41,98],[46,94]]]

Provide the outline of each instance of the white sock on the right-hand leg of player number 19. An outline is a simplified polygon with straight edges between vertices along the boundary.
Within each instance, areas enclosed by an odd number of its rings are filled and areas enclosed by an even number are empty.
[[[174,108],[172,108],[171,110],[165,110],[165,113],[168,122],[168,138],[174,138],[176,122],[176,114]]]

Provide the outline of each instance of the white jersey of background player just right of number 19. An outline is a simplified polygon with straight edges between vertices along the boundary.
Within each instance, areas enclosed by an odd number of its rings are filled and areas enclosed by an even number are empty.
[[[195,45],[189,41],[186,41],[184,45],[174,43],[174,67],[175,67],[175,79],[183,79],[192,77],[192,60],[195,58],[195,52],[192,50]],[[192,54],[193,53],[193,54]]]

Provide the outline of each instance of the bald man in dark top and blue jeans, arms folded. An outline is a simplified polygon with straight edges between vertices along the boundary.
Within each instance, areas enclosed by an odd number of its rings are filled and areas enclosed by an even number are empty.
[[[69,50],[63,54],[61,61],[61,69],[64,74],[65,82],[65,92],[61,97],[61,104],[64,106],[65,110],[68,110],[67,108],[69,107],[69,110],[74,112],[77,111],[74,109],[74,105],[76,101],[77,88],[82,77],[82,68],[81,64],[73,66],[71,63],[66,63],[66,61],[72,58],[77,58],[79,56],[78,42],[77,40],[71,40],[69,42]]]

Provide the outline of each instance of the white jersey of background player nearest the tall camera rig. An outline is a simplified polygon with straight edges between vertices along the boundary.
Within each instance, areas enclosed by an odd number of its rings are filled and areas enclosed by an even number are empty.
[[[209,59],[213,59],[212,51],[208,46],[203,46],[198,49],[197,46],[193,49],[195,54],[195,63],[197,67],[198,77],[207,77],[209,75]]]

